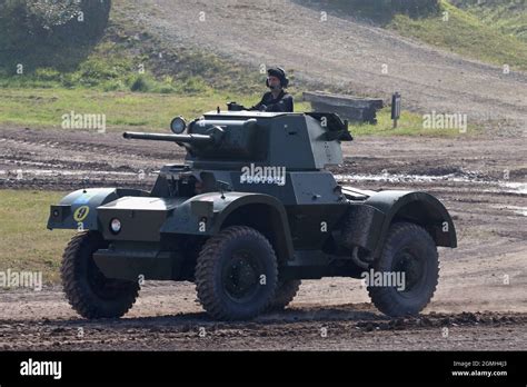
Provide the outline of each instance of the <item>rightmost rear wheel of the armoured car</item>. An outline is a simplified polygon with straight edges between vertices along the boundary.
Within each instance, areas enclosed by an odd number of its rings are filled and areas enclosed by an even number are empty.
[[[398,286],[368,286],[374,305],[391,317],[417,315],[430,301],[439,278],[436,244],[420,226],[394,224],[372,268],[375,272],[405,272],[406,279],[404,290]]]

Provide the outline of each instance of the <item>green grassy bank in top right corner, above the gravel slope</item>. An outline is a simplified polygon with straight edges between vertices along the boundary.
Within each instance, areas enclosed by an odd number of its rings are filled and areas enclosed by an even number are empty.
[[[443,14],[420,19],[397,14],[388,28],[402,36],[417,38],[468,58],[527,70],[525,41],[501,33],[498,29],[485,24],[474,14],[447,1],[443,1],[443,7],[448,12],[448,21],[443,20]]]

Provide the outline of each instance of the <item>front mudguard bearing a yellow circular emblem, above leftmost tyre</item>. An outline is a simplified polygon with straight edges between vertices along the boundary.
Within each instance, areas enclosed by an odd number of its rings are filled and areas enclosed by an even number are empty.
[[[64,196],[59,205],[51,206],[48,229],[101,230],[97,207],[123,196],[148,196],[139,189],[90,188]]]

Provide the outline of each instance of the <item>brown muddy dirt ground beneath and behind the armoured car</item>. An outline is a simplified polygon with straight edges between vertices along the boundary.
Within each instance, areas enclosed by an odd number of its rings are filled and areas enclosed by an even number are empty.
[[[0,188],[148,189],[157,169],[183,157],[176,145],[125,141],[119,133],[0,133]],[[371,189],[426,190],[454,216],[459,247],[441,248],[441,278],[422,317],[389,320],[369,304],[359,280],[327,278],[304,281],[282,314],[232,324],[210,320],[192,284],[147,281],[123,319],[90,322],[53,286],[1,292],[0,349],[525,350],[524,151],[524,139],[503,137],[366,137],[346,143],[345,163],[332,169],[338,179]]]

